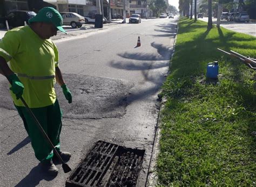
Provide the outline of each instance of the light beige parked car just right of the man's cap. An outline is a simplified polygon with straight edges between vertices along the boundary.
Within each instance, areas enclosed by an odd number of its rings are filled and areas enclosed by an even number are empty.
[[[82,27],[85,24],[84,17],[76,12],[60,12],[63,18],[63,25],[71,25],[72,28]]]

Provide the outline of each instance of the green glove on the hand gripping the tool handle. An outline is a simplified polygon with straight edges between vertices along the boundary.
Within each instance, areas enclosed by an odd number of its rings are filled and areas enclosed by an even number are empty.
[[[19,80],[16,74],[11,74],[8,76],[8,80],[11,82],[11,88],[12,92],[16,95],[16,99],[21,98],[24,90],[24,85]]]

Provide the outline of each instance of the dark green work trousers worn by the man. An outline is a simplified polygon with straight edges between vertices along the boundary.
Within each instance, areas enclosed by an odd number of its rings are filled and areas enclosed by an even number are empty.
[[[16,106],[19,116],[21,116],[26,132],[29,134],[31,145],[35,156],[40,162],[47,162],[52,159],[53,149],[45,140],[38,125],[33,120],[31,114],[24,106]],[[48,135],[52,144],[57,150],[60,149],[59,135],[62,130],[62,111],[60,110],[58,100],[50,106],[31,109],[45,133]]]

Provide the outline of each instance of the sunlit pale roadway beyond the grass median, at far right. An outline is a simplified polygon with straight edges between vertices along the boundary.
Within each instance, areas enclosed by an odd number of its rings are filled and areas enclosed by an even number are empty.
[[[200,20],[208,21],[208,17],[199,18]],[[217,23],[217,18],[212,18],[212,23]],[[220,26],[227,28],[228,30],[241,32],[249,35],[253,35],[256,37],[256,22],[235,22],[235,21],[227,21],[221,20]]]

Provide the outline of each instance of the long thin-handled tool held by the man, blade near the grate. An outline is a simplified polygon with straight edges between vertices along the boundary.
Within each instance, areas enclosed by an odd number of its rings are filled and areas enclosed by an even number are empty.
[[[11,81],[8,80],[11,84]],[[26,110],[28,110],[28,112],[30,113],[30,115],[32,116],[33,120],[35,120],[36,124],[37,124],[37,127],[39,128],[39,130],[41,131],[41,133],[43,134],[44,138],[46,141],[48,141],[48,143],[50,144],[50,146],[52,147],[54,153],[57,155],[58,159],[62,162],[62,168],[63,168],[63,171],[66,173],[66,172],[69,172],[71,171],[71,168],[69,167],[68,164],[66,164],[62,157],[60,157],[59,153],[57,152],[56,148],[53,146],[51,140],[49,139],[48,135],[45,133],[42,125],[39,123],[39,121],[37,120],[36,116],[33,114],[33,112],[30,110],[28,104],[26,104],[25,100],[23,99],[23,97],[20,98],[22,100],[22,103],[25,105],[26,107]]]

